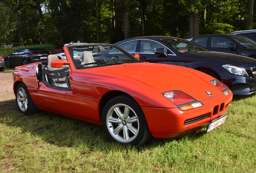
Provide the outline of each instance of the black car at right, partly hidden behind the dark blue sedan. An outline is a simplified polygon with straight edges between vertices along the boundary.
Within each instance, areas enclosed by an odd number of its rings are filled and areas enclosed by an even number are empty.
[[[256,42],[235,34],[211,34],[186,38],[208,50],[256,58]]]

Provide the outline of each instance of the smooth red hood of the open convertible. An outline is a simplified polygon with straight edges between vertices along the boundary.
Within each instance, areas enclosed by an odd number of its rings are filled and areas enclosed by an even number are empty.
[[[132,78],[161,93],[180,90],[199,101],[221,93],[209,82],[214,79],[212,76],[181,66],[144,62],[91,68],[90,70]],[[206,91],[212,93],[213,96],[207,95]]]

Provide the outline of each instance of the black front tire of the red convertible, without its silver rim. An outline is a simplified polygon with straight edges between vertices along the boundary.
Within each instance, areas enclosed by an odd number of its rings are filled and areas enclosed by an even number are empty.
[[[128,105],[130,108],[133,109],[133,111],[136,113],[137,117],[138,117],[138,122],[139,122],[139,132],[138,135],[136,136],[136,138],[133,141],[130,141],[128,143],[122,143],[120,141],[117,141],[109,132],[108,128],[107,128],[107,112],[109,111],[109,109],[116,104],[125,104]],[[147,131],[148,129],[148,125],[147,125],[147,121],[145,118],[145,115],[142,111],[142,109],[140,108],[140,106],[138,105],[138,103],[129,95],[121,95],[118,97],[115,97],[113,99],[111,99],[104,107],[103,109],[103,113],[102,113],[102,125],[103,125],[103,129],[107,135],[107,137],[114,142],[117,143],[121,143],[124,145],[133,145],[133,146],[138,146],[142,143],[144,143],[145,141],[147,141],[147,139],[145,140],[145,136],[147,136],[147,133],[149,133],[149,131]]]

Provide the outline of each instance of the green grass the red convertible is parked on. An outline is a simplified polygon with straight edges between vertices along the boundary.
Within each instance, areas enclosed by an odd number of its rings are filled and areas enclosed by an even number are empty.
[[[234,97],[227,121],[140,147],[110,142],[99,125],[0,104],[0,172],[256,172],[256,95]]]

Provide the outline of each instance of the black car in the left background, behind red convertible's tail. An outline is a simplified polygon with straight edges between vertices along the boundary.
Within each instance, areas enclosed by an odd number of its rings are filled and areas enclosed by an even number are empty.
[[[12,65],[26,65],[32,62],[45,61],[50,53],[43,48],[19,48],[6,56],[5,63],[8,68]]]

